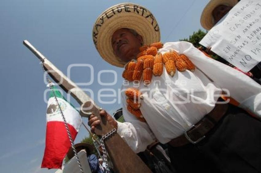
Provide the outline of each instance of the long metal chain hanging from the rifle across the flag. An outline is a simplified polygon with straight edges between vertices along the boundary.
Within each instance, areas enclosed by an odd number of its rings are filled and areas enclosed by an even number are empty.
[[[47,75],[47,72],[45,71],[43,62],[44,62],[44,59],[43,59],[43,61],[42,61],[40,64],[41,64],[41,67],[42,67],[42,69],[43,69],[43,71],[44,71],[45,78],[46,78],[47,82],[49,83],[48,87],[50,88],[50,90],[52,91],[52,93],[53,93],[53,95],[54,95],[56,104],[57,104],[57,106],[58,106],[58,108],[59,108],[59,111],[60,111],[60,114],[61,114],[61,116],[62,116],[62,118],[63,118],[64,125],[65,125],[65,128],[66,128],[68,137],[69,137],[69,139],[70,139],[73,152],[74,152],[74,154],[75,154],[75,156],[76,156],[77,163],[78,163],[78,165],[79,165],[79,167],[80,167],[80,172],[81,172],[81,173],[84,173],[83,168],[82,168],[82,165],[81,165],[81,162],[80,162],[79,157],[78,157],[78,154],[77,154],[77,151],[76,151],[75,146],[74,146],[74,142],[73,142],[73,140],[72,140],[72,135],[71,135],[71,133],[70,133],[70,131],[69,131],[68,124],[67,124],[67,122],[66,122],[66,120],[65,120],[64,113],[63,113],[63,111],[62,111],[62,109],[61,109],[61,106],[60,106],[60,104],[59,104],[59,102],[58,102],[58,99],[57,99],[57,97],[56,97],[56,95],[55,95],[55,93],[54,93],[54,90],[53,90],[53,88],[52,88],[53,84],[52,84],[51,80],[49,79],[49,77],[48,77],[48,75]]]

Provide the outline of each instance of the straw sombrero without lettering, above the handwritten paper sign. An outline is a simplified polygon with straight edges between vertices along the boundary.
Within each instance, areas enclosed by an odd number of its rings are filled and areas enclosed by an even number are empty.
[[[219,5],[235,6],[238,0],[210,0],[201,13],[200,23],[203,28],[210,30],[214,26],[212,11]]]

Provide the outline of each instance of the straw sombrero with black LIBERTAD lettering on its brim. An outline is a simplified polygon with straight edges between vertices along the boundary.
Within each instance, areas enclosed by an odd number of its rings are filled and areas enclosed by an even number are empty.
[[[160,41],[158,23],[150,11],[133,3],[122,3],[105,10],[96,20],[92,37],[100,56],[108,63],[123,67],[123,62],[113,53],[112,34],[120,28],[135,30],[143,38],[144,45]]]

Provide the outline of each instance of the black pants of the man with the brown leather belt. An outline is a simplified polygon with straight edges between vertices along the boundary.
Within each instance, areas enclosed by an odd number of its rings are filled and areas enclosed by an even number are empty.
[[[196,145],[169,145],[171,164],[185,172],[261,172],[261,122],[229,105],[225,116]]]

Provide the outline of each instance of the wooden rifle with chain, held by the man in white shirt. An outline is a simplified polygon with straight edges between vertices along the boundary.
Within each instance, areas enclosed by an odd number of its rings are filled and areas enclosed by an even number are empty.
[[[95,127],[95,134],[104,136],[113,128],[108,124],[105,117],[100,117],[100,107],[90,98],[83,90],[81,90],[75,83],[73,83],[66,75],[64,75],[58,68],[55,67],[45,56],[43,56],[33,45],[27,40],[23,44],[31,50],[31,52],[38,57],[43,63],[45,70],[53,78],[53,80],[60,85],[66,92],[71,94],[73,98],[80,104],[80,115],[88,117],[92,113],[101,120],[99,126]],[[126,142],[119,136],[114,134],[104,141],[105,148],[111,158],[116,172],[120,173],[134,173],[151,172],[144,162],[135,154]]]

